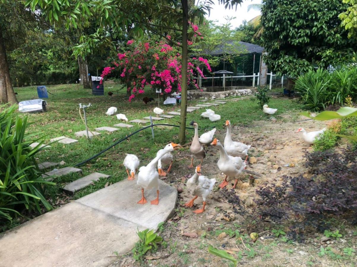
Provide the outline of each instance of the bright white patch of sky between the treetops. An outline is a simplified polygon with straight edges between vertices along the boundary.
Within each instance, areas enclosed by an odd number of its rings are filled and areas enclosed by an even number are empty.
[[[206,15],[206,18],[209,20],[218,20],[218,22],[216,22],[217,25],[225,24],[226,16],[236,17],[234,20],[231,20],[232,28],[234,29],[241,25],[243,20],[249,21],[253,19],[253,17],[260,15],[260,11],[253,9],[248,12],[247,7],[250,4],[261,4],[261,0],[245,0],[241,6],[237,7],[237,11],[235,9],[225,9],[224,5],[218,5],[218,1],[215,2],[216,4],[212,6],[211,9],[211,15],[209,17]]]

